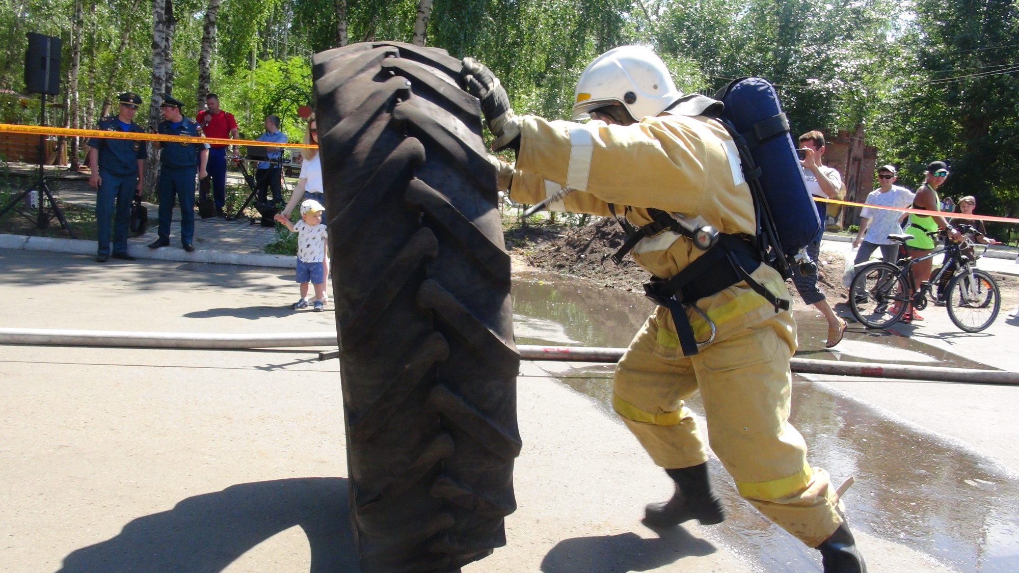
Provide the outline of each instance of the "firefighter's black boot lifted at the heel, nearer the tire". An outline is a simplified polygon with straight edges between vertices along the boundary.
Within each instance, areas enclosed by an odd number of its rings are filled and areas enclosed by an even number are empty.
[[[644,510],[644,523],[672,527],[691,519],[696,519],[701,525],[714,525],[726,520],[721,500],[715,496],[707,479],[707,463],[665,470],[665,473],[676,482],[676,493],[667,502],[649,504]]]

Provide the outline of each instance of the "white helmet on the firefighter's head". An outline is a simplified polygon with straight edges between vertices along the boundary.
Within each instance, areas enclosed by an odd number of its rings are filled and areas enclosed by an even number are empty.
[[[634,119],[658,115],[683,97],[668,68],[642,46],[620,46],[587,64],[574,90],[574,119],[592,109],[620,102]]]

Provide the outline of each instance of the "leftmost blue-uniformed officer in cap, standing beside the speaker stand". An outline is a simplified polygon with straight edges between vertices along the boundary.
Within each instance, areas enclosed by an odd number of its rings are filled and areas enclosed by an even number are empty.
[[[133,132],[144,134],[135,123],[135,113],[142,104],[138,94],[127,92],[117,96],[120,109],[116,115],[99,120],[102,132]],[[133,261],[127,254],[127,225],[130,223],[130,203],[133,195],[142,195],[145,160],[149,157],[145,142],[92,138],[89,140],[89,185],[96,193],[96,230],[99,250],[96,260],[105,263],[110,258],[110,217],[116,203],[113,226],[113,258]]]

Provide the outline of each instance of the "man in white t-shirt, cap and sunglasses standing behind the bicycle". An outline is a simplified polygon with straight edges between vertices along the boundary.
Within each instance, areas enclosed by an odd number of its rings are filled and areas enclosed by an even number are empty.
[[[882,165],[877,168],[878,188],[867,196],[867,205],[882,207],[909,207],[913,203],[913,192],[895,185],[899,172],[895,165]],[[887,209],[870,209],[864,207],[860,211],[860,230],[856,233],[853,247],[859,247],[853,264],[860,264],[870,258],[874,250],[881,250],[884,262],[895,263],[899,258],[899,244],[889,239],[890,235],[902,233],[899,221],[903,218],[901,211]]]

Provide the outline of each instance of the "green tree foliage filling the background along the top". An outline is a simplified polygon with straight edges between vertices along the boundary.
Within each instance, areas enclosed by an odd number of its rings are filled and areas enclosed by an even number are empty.
[[[152,4],[82,0],[79,91],[95,117],[104,98],[148,97]],[[173,95],[192,104],[208,0],[174,0]],[[64,40],[70,65],[74,0],[0,0],[3,120],[35,122],[22,106],[26,32]],[[409,41],[418,0],[346,0],[350,41]],[[1019,15],[1011,0],[435,0],[427,43],[492,68],[519,113],[570,117],[573,89],[597,54],[653,48],[686,93],[735,77],[775,84],[793,129],[866,128],[881,163],[915,187],[933,159],[952,166],[944,192],[974,195],[981,212],[1019,214]],[[337,43],[335,0],[224,0],[212,91],[255,137],[268,113],[291,141],[311,103],[310,56]],[[122,51],[121,36],[129,33]],[[2,92],[0,92],[2,93]],[[61,96],[62,98],[63,96]],[[59,100],[58,100],[59,101]],[[33,111],[35,110],[35,112]],[[90,115],[91,113],[91,115]],[[195,109],[185,108],[194,116]],[[49,121],[61,123],[53,109]]]

